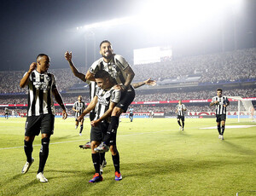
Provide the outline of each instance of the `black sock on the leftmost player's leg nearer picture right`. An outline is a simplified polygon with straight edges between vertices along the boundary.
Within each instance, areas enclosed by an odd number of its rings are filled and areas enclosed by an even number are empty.
[[[44,172],[44,165],[46,163],[46,160],[49,154],[49,137],[44,137],[41,142],[42,142],[42,146],[39,153],[40,160],[39,160],[38,173]]]

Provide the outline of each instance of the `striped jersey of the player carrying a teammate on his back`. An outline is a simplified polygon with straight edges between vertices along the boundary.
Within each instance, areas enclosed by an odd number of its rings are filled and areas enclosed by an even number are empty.
[[[97,89],[96,96],[98,97],[98,101],[96,103],[96,116],[94,120],[101,118],[104,112],[106,112],[109,108],[110,101],[114,103],[118,103],[121,98],[121,91],[119,89]],[[106,122],[110,123],[110,117],[106,120]]]

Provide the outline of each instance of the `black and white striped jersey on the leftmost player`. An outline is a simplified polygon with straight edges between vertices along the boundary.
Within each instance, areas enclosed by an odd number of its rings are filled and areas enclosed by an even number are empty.
[[[27,116],[55,114],[52,90],[56,89],[55,76],[51,73],[32,71],[28,78]]]

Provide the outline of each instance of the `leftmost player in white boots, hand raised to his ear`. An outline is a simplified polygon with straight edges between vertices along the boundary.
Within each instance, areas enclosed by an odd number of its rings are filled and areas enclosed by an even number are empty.
[[[32,62],[28,72],[26,72],[20,80],[21,88],[26,87],[26,85],[28,86],[28,107],[24,140],[26,164],[21,170],[21,173],[26,174],[34,162],[32,158],[32,143],[35,135],[39,135],[41,130],[42,146],[39,153],[37,174],[37,179],[40,182],[48,182],[44,177],[44,165],[49,155],[49,138],[54,131],[55,107],[53,95],[55,96],[55,101],[57,101],[62,108],[62,118],[67,118],[66,107],[55,85],[55,76],[47,72],[49,69],[49,61],[48,55],[38,55],[37,62]]]

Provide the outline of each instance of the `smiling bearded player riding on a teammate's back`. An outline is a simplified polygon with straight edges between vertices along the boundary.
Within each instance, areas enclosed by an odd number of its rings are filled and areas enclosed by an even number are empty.
[[[119,116],[122,112],[126,112],[131,102],[134,100],[135,91],[131,85],[131,81],[135,74],[131,69],[131,66],[125,61],[121,55],[113,53],[112,45],[108,40],[102,41],[100,44],[100,54],[102,58],[95,61],[88,72],[86,72],[85,78],[90,81],[95,81],[95,74],[98,70],[105,70],[109,72],[111,77],[115,79],[117,85],[115,88],[122,91],[122,97],[119,103],[113,108],[111,114],[111,123],[108,127],[107,136],[104,142],[96,148],[96,151],[103,152],[108,150],[109,142],[111,138],[116,135],[116,131],[119,126]]]

